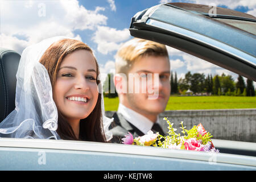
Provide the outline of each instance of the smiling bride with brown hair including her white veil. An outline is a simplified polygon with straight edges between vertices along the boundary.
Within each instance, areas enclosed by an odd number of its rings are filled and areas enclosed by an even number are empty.
[[[54,37],[24,49],[16,74],[15,110],[0,123],[0,137],[106,142],[97,60],[86,44]]]

